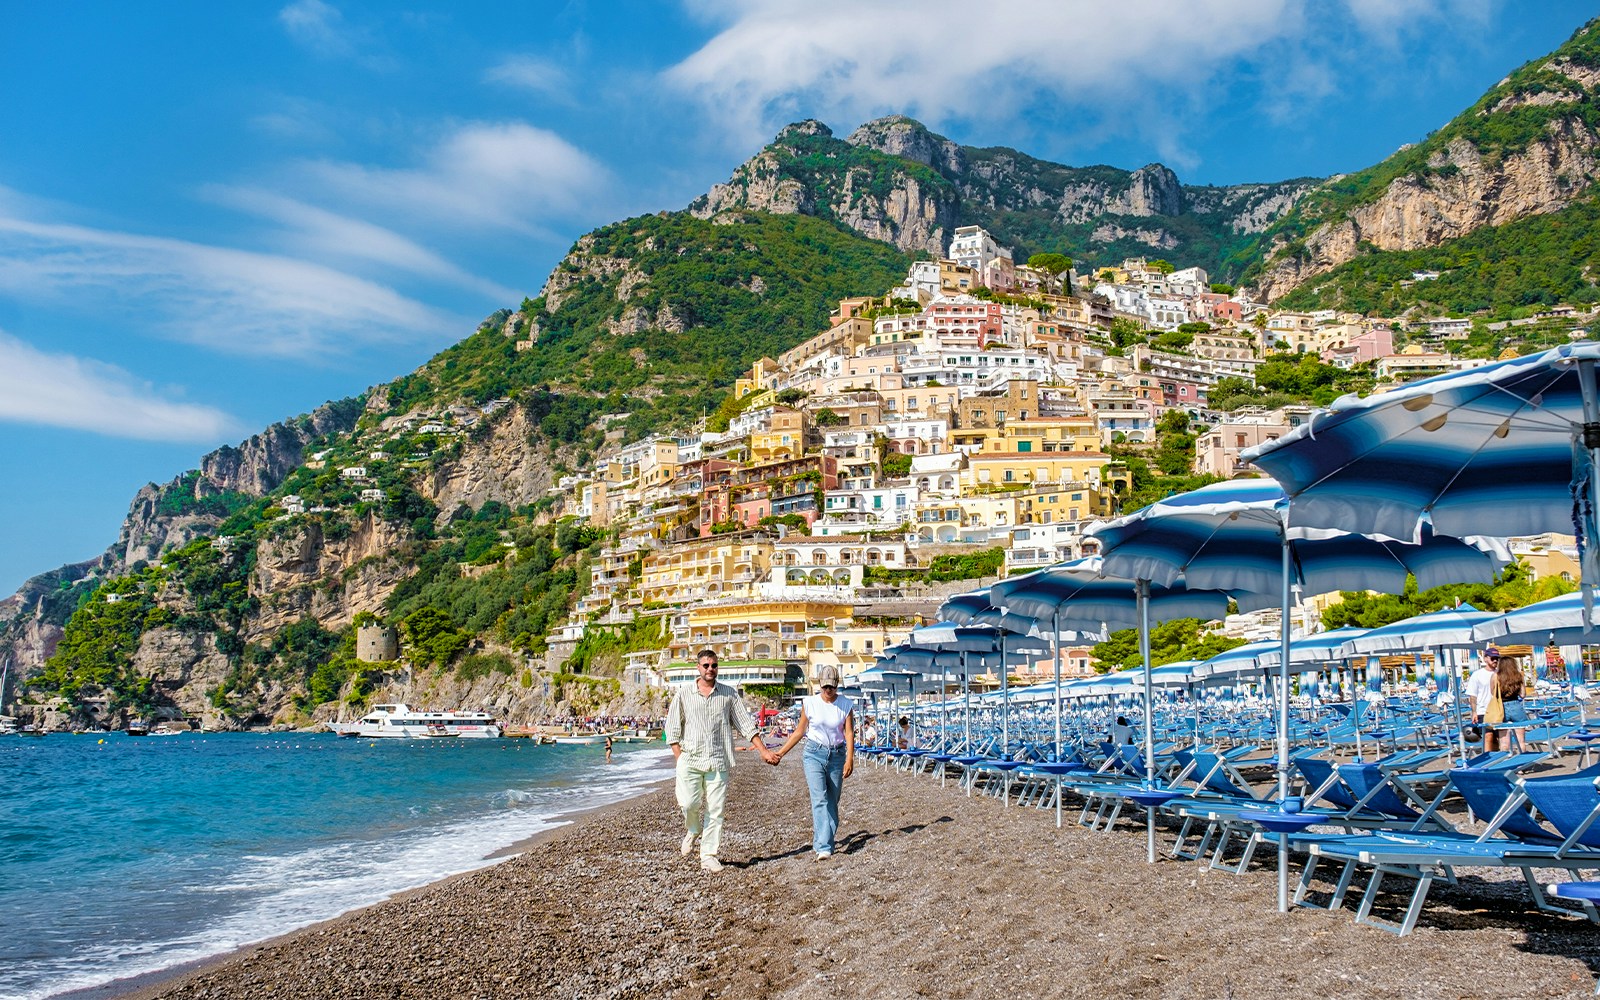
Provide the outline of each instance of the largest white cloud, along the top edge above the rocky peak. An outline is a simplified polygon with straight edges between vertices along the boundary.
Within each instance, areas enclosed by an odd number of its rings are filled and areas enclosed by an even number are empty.
[[[1344,61],[1336,50],[1352,30],[1410,34],[1491,0],[1013,0],[989,14],[965,0],[685,2],[717,34],[664,80],[736,144],[805,115],[904,112],[931,123],[1110,120],[1174,147],[1243,64],[1270,93],[1298,61],[1317,64],[1307,80]]]

